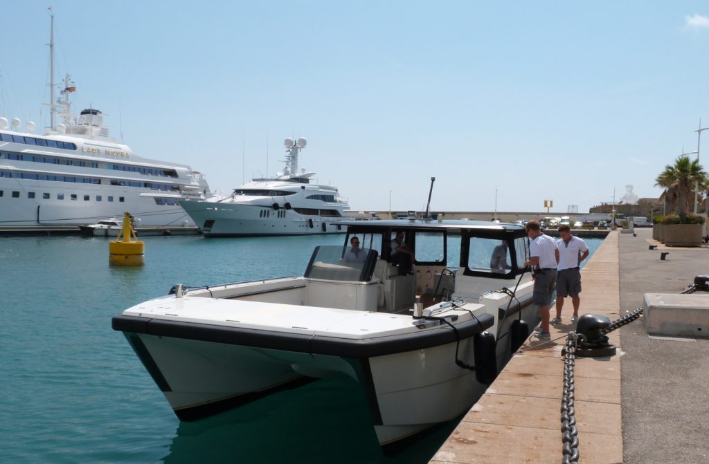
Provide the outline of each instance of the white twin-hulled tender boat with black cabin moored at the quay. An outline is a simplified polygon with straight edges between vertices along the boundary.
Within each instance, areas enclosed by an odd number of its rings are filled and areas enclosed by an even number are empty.
[[[347,245],[317,247],[303,276],[177,285],[113,317],[179,419],[344,376],[384,445],[467,412],[537,325],[523,227],[345,225]],[[361,259],[350,259],[350,237]]]

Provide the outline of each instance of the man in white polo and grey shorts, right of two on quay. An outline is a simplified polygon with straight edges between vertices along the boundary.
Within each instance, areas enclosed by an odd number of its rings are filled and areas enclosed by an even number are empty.
[[[559,226],[559,237],[557,248],[559,249],[559,266],[557,273],[557,317],[552,319],[552,324],[562,323],[562,307],[564,298],[571,297],[574,304],[574,315],[571,322],[579,319],[579,305],[581,304],[581,271],[579,266],[581,261],[588,258],[588,247],[586,242],[579,237],[571,235],[571,228],[568,225]]]

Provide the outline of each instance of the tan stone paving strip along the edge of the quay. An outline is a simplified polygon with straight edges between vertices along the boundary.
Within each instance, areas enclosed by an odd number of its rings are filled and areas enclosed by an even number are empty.
[[[620,314],[618,233],[608,234],[581,273],[580,313],[616,319]],[[566,305],[562,317],[568,322],[571,302]],[[552,326],[552,341],[527,340],[430,462],[561,461],[561,351],[570,330],[571,324],[560,324]],[[622,353],[620,331],[609,338]],[[581,462],[623,462],[620,356],[577,358],[575,375]]]

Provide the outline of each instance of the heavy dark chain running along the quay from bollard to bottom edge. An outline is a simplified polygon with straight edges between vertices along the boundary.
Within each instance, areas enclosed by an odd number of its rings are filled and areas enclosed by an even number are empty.
[[[579,429],[576,428],[574,407],[574,363],[576,362],[576,334],[566,335],[564,349],[564,389],[562,390],[562,451],[564,464],[579,462]]]

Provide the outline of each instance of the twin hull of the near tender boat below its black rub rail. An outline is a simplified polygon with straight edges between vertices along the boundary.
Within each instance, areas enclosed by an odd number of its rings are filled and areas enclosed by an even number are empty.
[[[131,322],[125,319],[136,318],[116,317],[114,328],[128,329]],[[284,388],[337,376],[357,383],[369,404],[379,443],[384,445],[463,414],[486,388],[474,372],[456,365],[455,341],[381,356],[337,356],[138,332],[124,334],[177,417],[186,421],[238,407]],[[459,358],[470,364],[474,363],[471,334],[464,334],[458,350]],[[352,348],[352,353],[357,349],[361,347]]]

